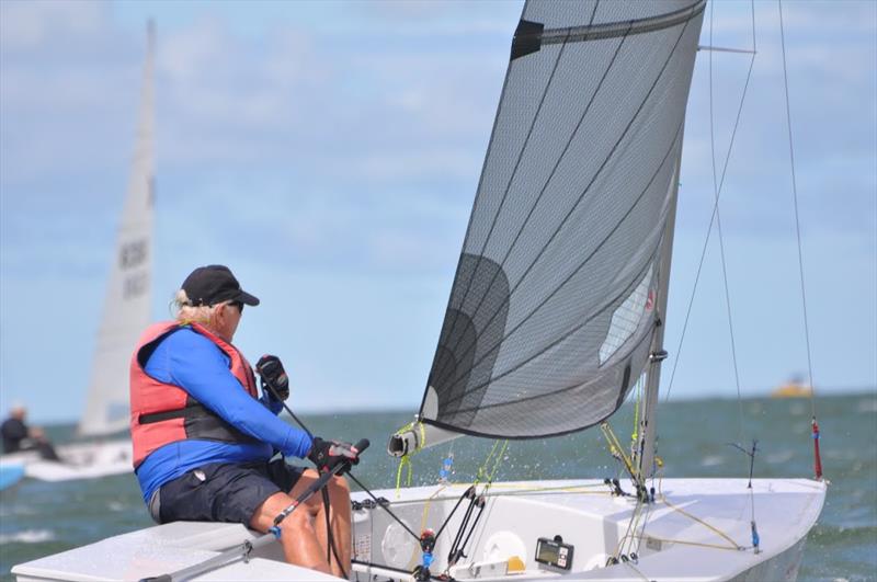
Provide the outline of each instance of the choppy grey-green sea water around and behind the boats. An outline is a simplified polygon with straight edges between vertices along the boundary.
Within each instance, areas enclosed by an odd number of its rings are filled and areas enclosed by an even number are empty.
[[[822,464],[831,486],[808,537],[798,580],[877,580],[877,390],[820,397],[816,404]],[[631,412],[626,406],[612,420],[625,443],[633,427]],[[384,452],[386,438],[411,416],[412,411],[390,411],[303,420],[315,434],[369,438],[373,447],[355,475],[369,489],[379,489],[396,482],[397,461]],[[811,477],[809,419],[810,403],[805,399],[662,403],[659,448],[665,477],[745,477],[747,457],[727,444],[740,434],[744,443],[759,441],[755,477]],[[72,434],[72,426],[47,429],[56,442]],[[449,446],[414,457],[413,484],[436,480]],[[453,480],[471,479],[491,446],[478,438],[456,441]],[[600,431],[591,430],[548,441],[510,442],[496,478],[604,478],[617,475],[616,465]],[[150,525],[133,476],[67,483],[24,480],[0,493],[0,578],[10,579],[15,563]]]

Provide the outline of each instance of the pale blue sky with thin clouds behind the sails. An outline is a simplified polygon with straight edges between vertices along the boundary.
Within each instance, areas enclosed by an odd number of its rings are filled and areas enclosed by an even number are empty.
[[[815,383],[877,385],[877,9],[786,2]],[[741,390],[807,372],[777,7],[722,191]],[[0,3],[0,408],[76,419],[158,27],[156,319],[192,267],[262,298],[236,343],[281,355],[298,410],[422,396],[519,2]],[[714,45],[748,48],[748,2]],[[707,44],[705,21],[702,44]],[[713,55],[720,161],[747,55]],[[736,393],[718,246],[677,344],[711,212],[709,54],[686,122],[667,328],[673,398]],[[715,235],[715,233],[714,233]]]

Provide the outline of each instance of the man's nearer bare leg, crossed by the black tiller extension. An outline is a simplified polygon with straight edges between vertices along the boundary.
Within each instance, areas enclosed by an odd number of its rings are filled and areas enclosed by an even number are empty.
[[[296,487],[293,488],[293,492],[295,491]],[[286,493],[274,493],[255,510],[250,526],[266,533],[274,525],[274,517],[292,503],[293,499]],[[318,509],[319,505],[315,505],[311,498],[311,502],[303,503],[291,513],[281,525],[281,545],[287,562],[331,573],[322,549],[326,547],[324,541],[321,548],[315,529]]]

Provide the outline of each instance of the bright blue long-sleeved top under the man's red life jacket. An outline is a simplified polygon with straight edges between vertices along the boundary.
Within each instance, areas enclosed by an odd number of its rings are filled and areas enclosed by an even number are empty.
[[[209,339],[180,328],[149,356],[146,373],[159,381],[179,386],[238,431],[260,441],[254,444],[185,440],[167,444],[137,468],[137,480],[149,503],[166,482],[210,463],[267,460],[275,450],[305,457],[311,447],[307,433],[277,418],[283,404],[269,395],[253,399],[231,374],[230,360]]]

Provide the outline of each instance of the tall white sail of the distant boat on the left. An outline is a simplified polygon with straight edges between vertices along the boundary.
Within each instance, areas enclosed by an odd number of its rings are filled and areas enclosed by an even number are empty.
[[[98,331],[86,410],[78,429],[86,435],[110,434],[128,426],[130,354],[149,323],[155,164],[153,47],[155,31],[150,23],[130,180]]]

